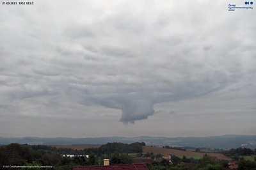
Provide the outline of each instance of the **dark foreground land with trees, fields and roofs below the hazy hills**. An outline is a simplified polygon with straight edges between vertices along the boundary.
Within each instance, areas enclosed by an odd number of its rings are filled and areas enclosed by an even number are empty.
[[[107,166],[103,166],[105,160],[109,161]],[[149,170],[246,170],[256,169],[256,149],[160,147],[143,142],[101,146],[12,143],[0,147],[0,165],[0,169],[129,169],[133,165]]]

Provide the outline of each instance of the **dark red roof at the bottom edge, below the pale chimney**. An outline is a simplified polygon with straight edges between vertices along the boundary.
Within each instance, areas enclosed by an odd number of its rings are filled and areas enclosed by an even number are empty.
[[[111,166],[81,166],[72,170],[148,170],[147,164],[118,164]]]

